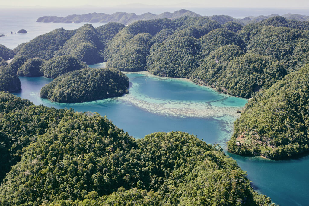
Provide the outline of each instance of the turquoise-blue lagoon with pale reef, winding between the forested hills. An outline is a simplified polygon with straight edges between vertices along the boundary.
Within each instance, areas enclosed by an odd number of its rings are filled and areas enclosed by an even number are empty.
[[[52,81],[44,77],[19,77],[22,90],[14,93],[48,107],[74,108],[98,112],[136,138],[151,132],[184,131],[226,150],[247,99],[221,94],[205,86],[178,78],[161,78],[149,73],[126,73],[129,94],[85,103],[55,103],[39,96],[42,86]],[[226,151],[225,151],[226,152]],[[309,156],[282,161],[241,157],[227,153],[247,171],[252,186],[280,205],[307,205],[309,197]]]

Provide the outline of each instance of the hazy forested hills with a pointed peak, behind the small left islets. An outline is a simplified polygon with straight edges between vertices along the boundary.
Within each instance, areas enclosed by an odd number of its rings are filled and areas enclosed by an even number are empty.
[[[68,55],[94,64],[104,61],[106,45],[123,27],[121,23],[108,23],[97,28],[85,24],[76,30],[55,29],[20,44],[14,50],[17,56],[26,59],[39,57],[49,60]]]

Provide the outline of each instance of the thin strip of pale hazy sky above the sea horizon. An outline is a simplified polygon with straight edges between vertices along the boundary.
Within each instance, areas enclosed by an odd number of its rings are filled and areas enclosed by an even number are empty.
[[[1,6],[117,6],[124,4],[147,4],[186,7],[256,7],[256,8],[309,8],[309,0],[0,0]]]

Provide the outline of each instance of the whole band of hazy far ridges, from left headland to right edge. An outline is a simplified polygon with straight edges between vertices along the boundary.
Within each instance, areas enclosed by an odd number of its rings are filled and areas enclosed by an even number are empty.
[[[81,22],[119,22],[125,25],[136,22],[138,20],[150,20],[150,19],[177,19],[183,16],[191,16],[191,17],[201,17],[201,15],[194,13],[189,10],[181,9],[175,11],[173,13],[164,12],[162,14],[156,15],[150,12],[144,13],[142,15],[136,15],[135,13],[126,13],[126,12],[116,12],[111,15],[105,13],[89,13],[82,15],[68,15],[66,17],[58,17],[58,16],[42,16],[36,20],[36,22],[44,22],[44,23],[81,23]],[[220,24],[224,24],[230,21],[238,22],[242,25],[247,25],[249,23],[257,23],[263,21],[265,19],[272,18],[274,16],[280,16],[278,14],[272,14],[268,16],[260,15],[260,16],[248,16],[243,19],[235,19],[228,15],[213,15],[213,16],[203,16],[210,20],[218,21]],[[285,14],[282,15],[286,19],[289,20],[298,20],[298,21],[309,21],[309,16],[299,15],[299,14]]]

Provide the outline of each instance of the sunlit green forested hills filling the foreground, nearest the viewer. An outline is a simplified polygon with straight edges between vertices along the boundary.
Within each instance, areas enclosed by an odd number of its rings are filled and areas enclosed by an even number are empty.
[[[218,145],[184,132],[134,139],[97,113],[0,92],[0,204],[273,205]]]

